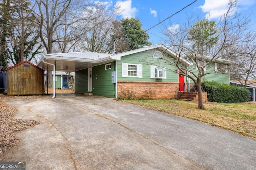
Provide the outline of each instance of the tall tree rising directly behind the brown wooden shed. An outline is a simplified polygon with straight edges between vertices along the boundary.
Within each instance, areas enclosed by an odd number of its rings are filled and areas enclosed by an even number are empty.
[[[15,65],[24,59],[31,61],[40,53],[39,49],[42,45],[38,43],[39,33],[36,31],[38,27],[34,17],[28,12],[30,2],[22,0],[13,3],[12,34],[6,42],[9,45],[9,59]]]

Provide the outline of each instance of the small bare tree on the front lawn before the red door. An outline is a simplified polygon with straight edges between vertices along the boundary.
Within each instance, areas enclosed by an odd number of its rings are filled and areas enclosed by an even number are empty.
[[[197,45],[198,41],[189,40],[191,35],[189,30],[194,24],[192,18],[188,18],[188,22],[184,24],[172,24],[166,26],[166,30],[163,32],[166,39],[164,40],[165,44],[170,45],[176,55],[177,59],[174,62],[169,62],[167,59],[164,62],[167,62],[170,65],[175,65],[181,73],[186,75],[188,78],[192,79],[197,87],[198,91],[198,108],[204,109],[204,103],[202,100],[202,89],[201,81],[202,77],[212,73],[222,73],[223,69],[213,69],[214,71],[206,71],[207,67],[211,67],[214,62],[219,62],[223,60],[222,58],[230,56],[235,53],[242,53],[240,48],[231,48],[244,41],[244,32],[248,28],[248,23],[250,20],[245,17],[240,17],[236,11],[236,4],[238,0],[230,0],[228,4],[227,12],[220,17],[217,26],[219,28],[216,32],[215,37],[218,37],[218,41],[213,46],[205,45],[207,49],[198,50]],[[206,41],[207,42],[207,41]],[[201,46],[203,47],[203,46]],[[203,47],[203,48],[204,48]],[[226,50],[234,49],[234,50]],[[207,51],[210,55],[205,56],[201,55],[200,51]],[[193,63],[190,67],[182,64],[182,58],[186,58],[188,61]]]

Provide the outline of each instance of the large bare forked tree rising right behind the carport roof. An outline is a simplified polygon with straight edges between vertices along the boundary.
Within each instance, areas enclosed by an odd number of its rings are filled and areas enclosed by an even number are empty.
[[[92,0],[34,0],[33,15],[46,52],[52,53],[53,43],[59,43],[61,51],[66,52],[68,43],[76,43],[76,39],[88,31],[87,23],[97,17],[94,9],[105,5]],[[52,81],[51,74],[51,71],[47,73],[48,82]],[[51,83],[48,87],[52,87]]]

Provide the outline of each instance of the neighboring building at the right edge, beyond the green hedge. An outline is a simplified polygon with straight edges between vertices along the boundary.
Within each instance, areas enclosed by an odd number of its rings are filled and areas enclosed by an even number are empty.
[[[253,97],[253,101],[256,101],[256,79],[249,79],[247,80],[246,84],[246,89],[250,91],[250,95]],[[243,87],[244,80],[230,80],[230,85]]]

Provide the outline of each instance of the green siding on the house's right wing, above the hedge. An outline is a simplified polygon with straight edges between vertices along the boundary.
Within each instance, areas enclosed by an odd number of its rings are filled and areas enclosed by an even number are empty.
[[[229,67],[229,65],[228,65],[228,67]],[[196,70],[195,65],[191,65],[190,70],[193,70],[193,72],[196,75],[198,75],[198,70]],[[230,79],[229,74],[214,73],[214,71],[215,71],[215,63],[211,63],[210,65],[207,65],[205,72],[210,73],[210,74],[206,74],[204,77],[202,77],[201,80],[202,81],[215,81],[218,83],[229,84],[229,79]],[[190,81],[190,83],[192,83],[192,82]]]

